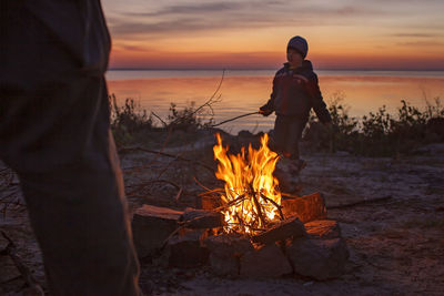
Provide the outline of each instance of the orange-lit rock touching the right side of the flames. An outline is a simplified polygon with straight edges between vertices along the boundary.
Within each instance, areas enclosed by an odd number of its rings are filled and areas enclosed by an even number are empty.
[[[285,217],[296,216],[302,223],[326,218],[325,201],[321,193],[282,198],[281,205]]]

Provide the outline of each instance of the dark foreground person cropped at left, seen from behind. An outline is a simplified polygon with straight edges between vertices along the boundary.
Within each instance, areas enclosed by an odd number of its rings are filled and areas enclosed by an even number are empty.
[[[20,178],[52,295],[138,295],[99,0],[1,0],[0,157]]]

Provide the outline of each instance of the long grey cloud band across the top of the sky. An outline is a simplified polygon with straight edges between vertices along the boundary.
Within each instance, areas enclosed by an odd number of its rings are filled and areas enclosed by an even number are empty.
[[[384,10],[361,6],[302,1],[242,1],[165,6],[153,12],[121,12],[110,19],[113,35],[171,38],[171,34],[202,34],[231,29],[259,30],[282,27],[351,25],[384,14]]]

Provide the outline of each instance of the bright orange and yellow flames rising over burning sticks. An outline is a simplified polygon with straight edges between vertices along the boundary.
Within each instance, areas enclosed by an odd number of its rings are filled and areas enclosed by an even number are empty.
[[[261,137],[261,147],[254,150],[251,144],[238,155],[229,155],[223,147],[220,134],[214,145],[214,159],[219,161],[215,176],[225,181],[225,194],[222,195],[226,232],[255,234],[266,224],[281,217],[281,193],[279,182],[273,176],[279,156],[268,146],[269,135]]]

